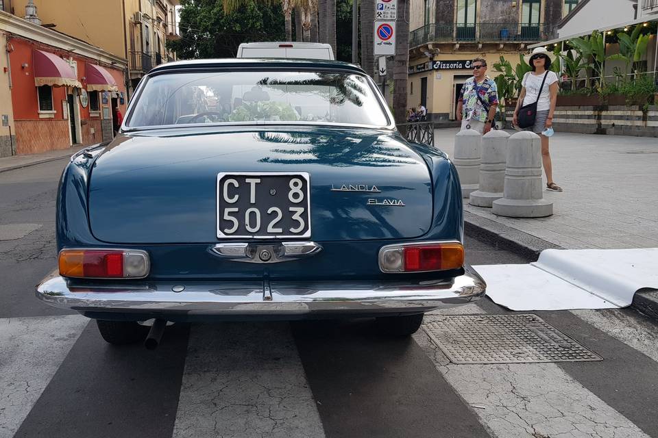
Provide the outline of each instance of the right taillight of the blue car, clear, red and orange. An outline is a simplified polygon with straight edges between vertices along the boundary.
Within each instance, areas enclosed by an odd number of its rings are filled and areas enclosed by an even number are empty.
[[[425,272],[458,269],[464,263],[459,243],[403,244],[385,246],[380,251],[383,272]]]

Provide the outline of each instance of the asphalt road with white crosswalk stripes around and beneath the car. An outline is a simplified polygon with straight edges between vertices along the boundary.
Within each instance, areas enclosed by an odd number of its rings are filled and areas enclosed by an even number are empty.
[[[369,320],[191,324],[114,348],[42,305],[65,160],[0,173],[0,438],[658,437],[658,326],[630,309],[535,312],[602,361],[456,365]],[[472,264],[526,260],[467,237]],[[426,315],[506,315],[488,299]]]

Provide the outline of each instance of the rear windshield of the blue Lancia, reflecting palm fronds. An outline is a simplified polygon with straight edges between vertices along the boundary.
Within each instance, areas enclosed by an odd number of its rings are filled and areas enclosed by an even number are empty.
[[[126,125],[249,122],[389,124],[362,75],[231,71],[150,77]]]

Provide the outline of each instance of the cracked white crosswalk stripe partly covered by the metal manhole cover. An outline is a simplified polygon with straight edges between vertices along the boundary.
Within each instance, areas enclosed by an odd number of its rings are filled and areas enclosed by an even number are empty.
[[[648,438],[555,363],[455,365],[424,331],[414,339],[492,437]]]

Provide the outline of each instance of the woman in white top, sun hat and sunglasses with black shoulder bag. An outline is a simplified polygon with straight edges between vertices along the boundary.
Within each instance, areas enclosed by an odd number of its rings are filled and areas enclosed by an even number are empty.
[[[541,133],[553,125],[553,112],[555,112],[555,103],[557,102],[558,82],[557,75],[549,71],[550,63],[554,55],[546,47],[537,47],[531,55],[526,56],[526,61],[533,68],[526,73],[522,81],[521,95],[514,110],[513,124],[518,125],[519,108],[524,105],[530,105],[537,102],[537,117],[535,125],[528,127],[539,134],[541,138],[541,160],[544,162],[544,172],[546,172],[546,188],[555,192],[561,192],[562,188],[553,181],[552,166],[550,163],[550,153],[548,151],[548,137],[542,136]],[[529,59],[528,59],[529,58]],[[541,82],[544,81],[544,88],[541,88]],[[539,89],[541,88],[541,94]],[[539,99],[537,99],[539,98]]]

